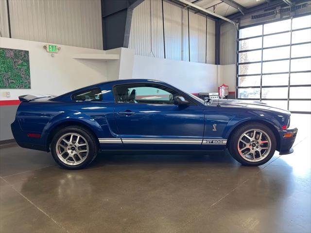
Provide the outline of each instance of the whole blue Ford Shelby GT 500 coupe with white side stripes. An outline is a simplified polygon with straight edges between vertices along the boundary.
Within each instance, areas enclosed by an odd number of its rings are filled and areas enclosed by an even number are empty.
[[[62,167],[78,169],[99,150],[228,148],[243,165],[258,166],[275,150],[291,153],[297,129],[290,112],[261,102],[209,100],[164,82],[104,82],[57,97],[19,97],[11,125],[17,143],[51,151]]]

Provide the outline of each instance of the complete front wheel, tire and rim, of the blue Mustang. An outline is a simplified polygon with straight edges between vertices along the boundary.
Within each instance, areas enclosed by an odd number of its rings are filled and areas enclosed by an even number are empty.
[[[276,137],[266,125],[248,123],[233,132],[228,149],[231,156],[242,165],[259,166],[274,155]]]

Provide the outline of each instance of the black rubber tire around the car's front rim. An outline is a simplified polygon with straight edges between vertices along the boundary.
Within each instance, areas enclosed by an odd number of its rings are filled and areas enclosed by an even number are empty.
[[[271,145],[270,145],[270,152],[267,153],[266,157],[260,161],[248,161],[246,159],[244,159],[239,151],[238,151],[238,143],[239,143],[239,139],[240,137],[244,134],[244,132],[246,132],[247,130],[251,130],[251,129],[259,129],[262,130],[263,132],[265,132],[271,140]],[[229,139],[229,146],[228,146],[228,150],[231,154],[231,156],[238,162],[242,163],[242,165],[244,166],[260,166],[264,163],[266,163],[267,161],[269,161],[272,156],[274,155],[275,151],[276,151],[276,136],[275,134],[272,132],[272,130],[263,124],[260,123],[247,123],[245,125],[240,126],[239,128],[235,129]]]

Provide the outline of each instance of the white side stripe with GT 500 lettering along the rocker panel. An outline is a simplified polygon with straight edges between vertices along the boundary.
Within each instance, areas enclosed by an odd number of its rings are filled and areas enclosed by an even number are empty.
[[[225,139],[99,138],[100,143],[205,144],[225,145]]]

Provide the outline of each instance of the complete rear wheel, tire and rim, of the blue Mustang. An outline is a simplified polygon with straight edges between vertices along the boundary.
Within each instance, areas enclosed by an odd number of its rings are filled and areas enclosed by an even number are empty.
[[[79,126],[69,126],[57,132],[51,143],[54,160],[67,169],[86,167],[96,157],[98,145],[94,136]]]

